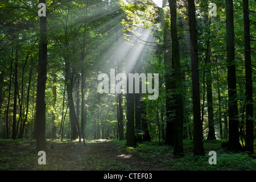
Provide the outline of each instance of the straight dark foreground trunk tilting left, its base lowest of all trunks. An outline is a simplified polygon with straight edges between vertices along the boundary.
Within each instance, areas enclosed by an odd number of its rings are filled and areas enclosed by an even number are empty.
[[[193,99],[193,142],[194,155],[205,155],[203,144],[203,123],[200,119],[199,67],[196,36],[196,10],[194,0],[188,0],[189,32],[191,42],[192,99]]]

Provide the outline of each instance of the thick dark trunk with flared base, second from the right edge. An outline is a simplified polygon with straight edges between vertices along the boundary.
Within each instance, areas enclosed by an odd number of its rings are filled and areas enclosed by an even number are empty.
[[[236,61],[234,49],[234,10],[233,0],[226,0],[226,59],[228,63],[228,150],[241,150],[238,128]]]

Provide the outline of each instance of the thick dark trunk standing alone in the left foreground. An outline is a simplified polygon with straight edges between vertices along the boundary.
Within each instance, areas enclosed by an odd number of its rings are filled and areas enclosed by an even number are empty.
[[[39,0],[46,3],[46,0]],[[47,79],[47,18],[40,17],[40,40],[38,59],[38,85],[36,91],[35,134],[36,150],[46,149],[46,79]]]

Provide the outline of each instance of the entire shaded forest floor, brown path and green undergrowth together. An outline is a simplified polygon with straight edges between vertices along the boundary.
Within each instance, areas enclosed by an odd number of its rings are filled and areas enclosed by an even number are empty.
[[[184,156],[172,154],[173,147],[157,141],[125,146],[125,140],[47,140],[46,165],[39,165],[35,140],[0,140],[0,170],[11,171],[255,171],[256,160],[245,152],[221,148],[223,140],[205,141],[205,156],[193,157],[192,140],[184,140]],[[217,165],[210,165],[209,151],[217,152]]]

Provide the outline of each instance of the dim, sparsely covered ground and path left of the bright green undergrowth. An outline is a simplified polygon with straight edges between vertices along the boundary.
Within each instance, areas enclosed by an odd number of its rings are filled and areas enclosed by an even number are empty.
[[[92,140],[86,146],[77,142],[49,142],[46,151],[47,165],[39,165],[38,158],[35,142],[0,144],[0,170],[170,170],[170,166],[164,164],[160,158],[151,158],[152,161],[144,159],[136,152],[121,150],[108,140]]]

